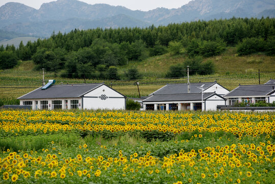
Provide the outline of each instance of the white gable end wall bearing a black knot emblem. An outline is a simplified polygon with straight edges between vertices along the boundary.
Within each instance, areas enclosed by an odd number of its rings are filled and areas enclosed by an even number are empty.
[[[108,97],[102,100],[98,97],[106,95]],[[89,98],[90,97],[90,98]],[[90,93],[84,95],[83,98],[84,109],[126,109],[126,99],[115,90],[109,88],[106,85],[102,85]]]

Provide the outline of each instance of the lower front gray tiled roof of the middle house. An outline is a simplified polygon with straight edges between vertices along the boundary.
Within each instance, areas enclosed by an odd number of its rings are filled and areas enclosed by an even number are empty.
[[[206,100],[209,97],[212,97],[213,95],[215,95],[215,93],[205,93],[203,95],[203,100]],[[142,102],[199,101],[199,100],[202,100],[202,94],[174,94],[174,95],[153,95],[143,100]]]

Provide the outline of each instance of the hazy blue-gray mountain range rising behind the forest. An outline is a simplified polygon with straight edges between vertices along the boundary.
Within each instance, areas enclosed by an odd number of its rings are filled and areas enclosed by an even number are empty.
[[[147,27],[185,21],[231,17],[275,17],[274,0],[194,0],[177,9],[130,10],[77,0],[44,3],[37,10],[20,3],[0,7],[0,29],[29,36],[48,37],[53,31],[74,29]]]

